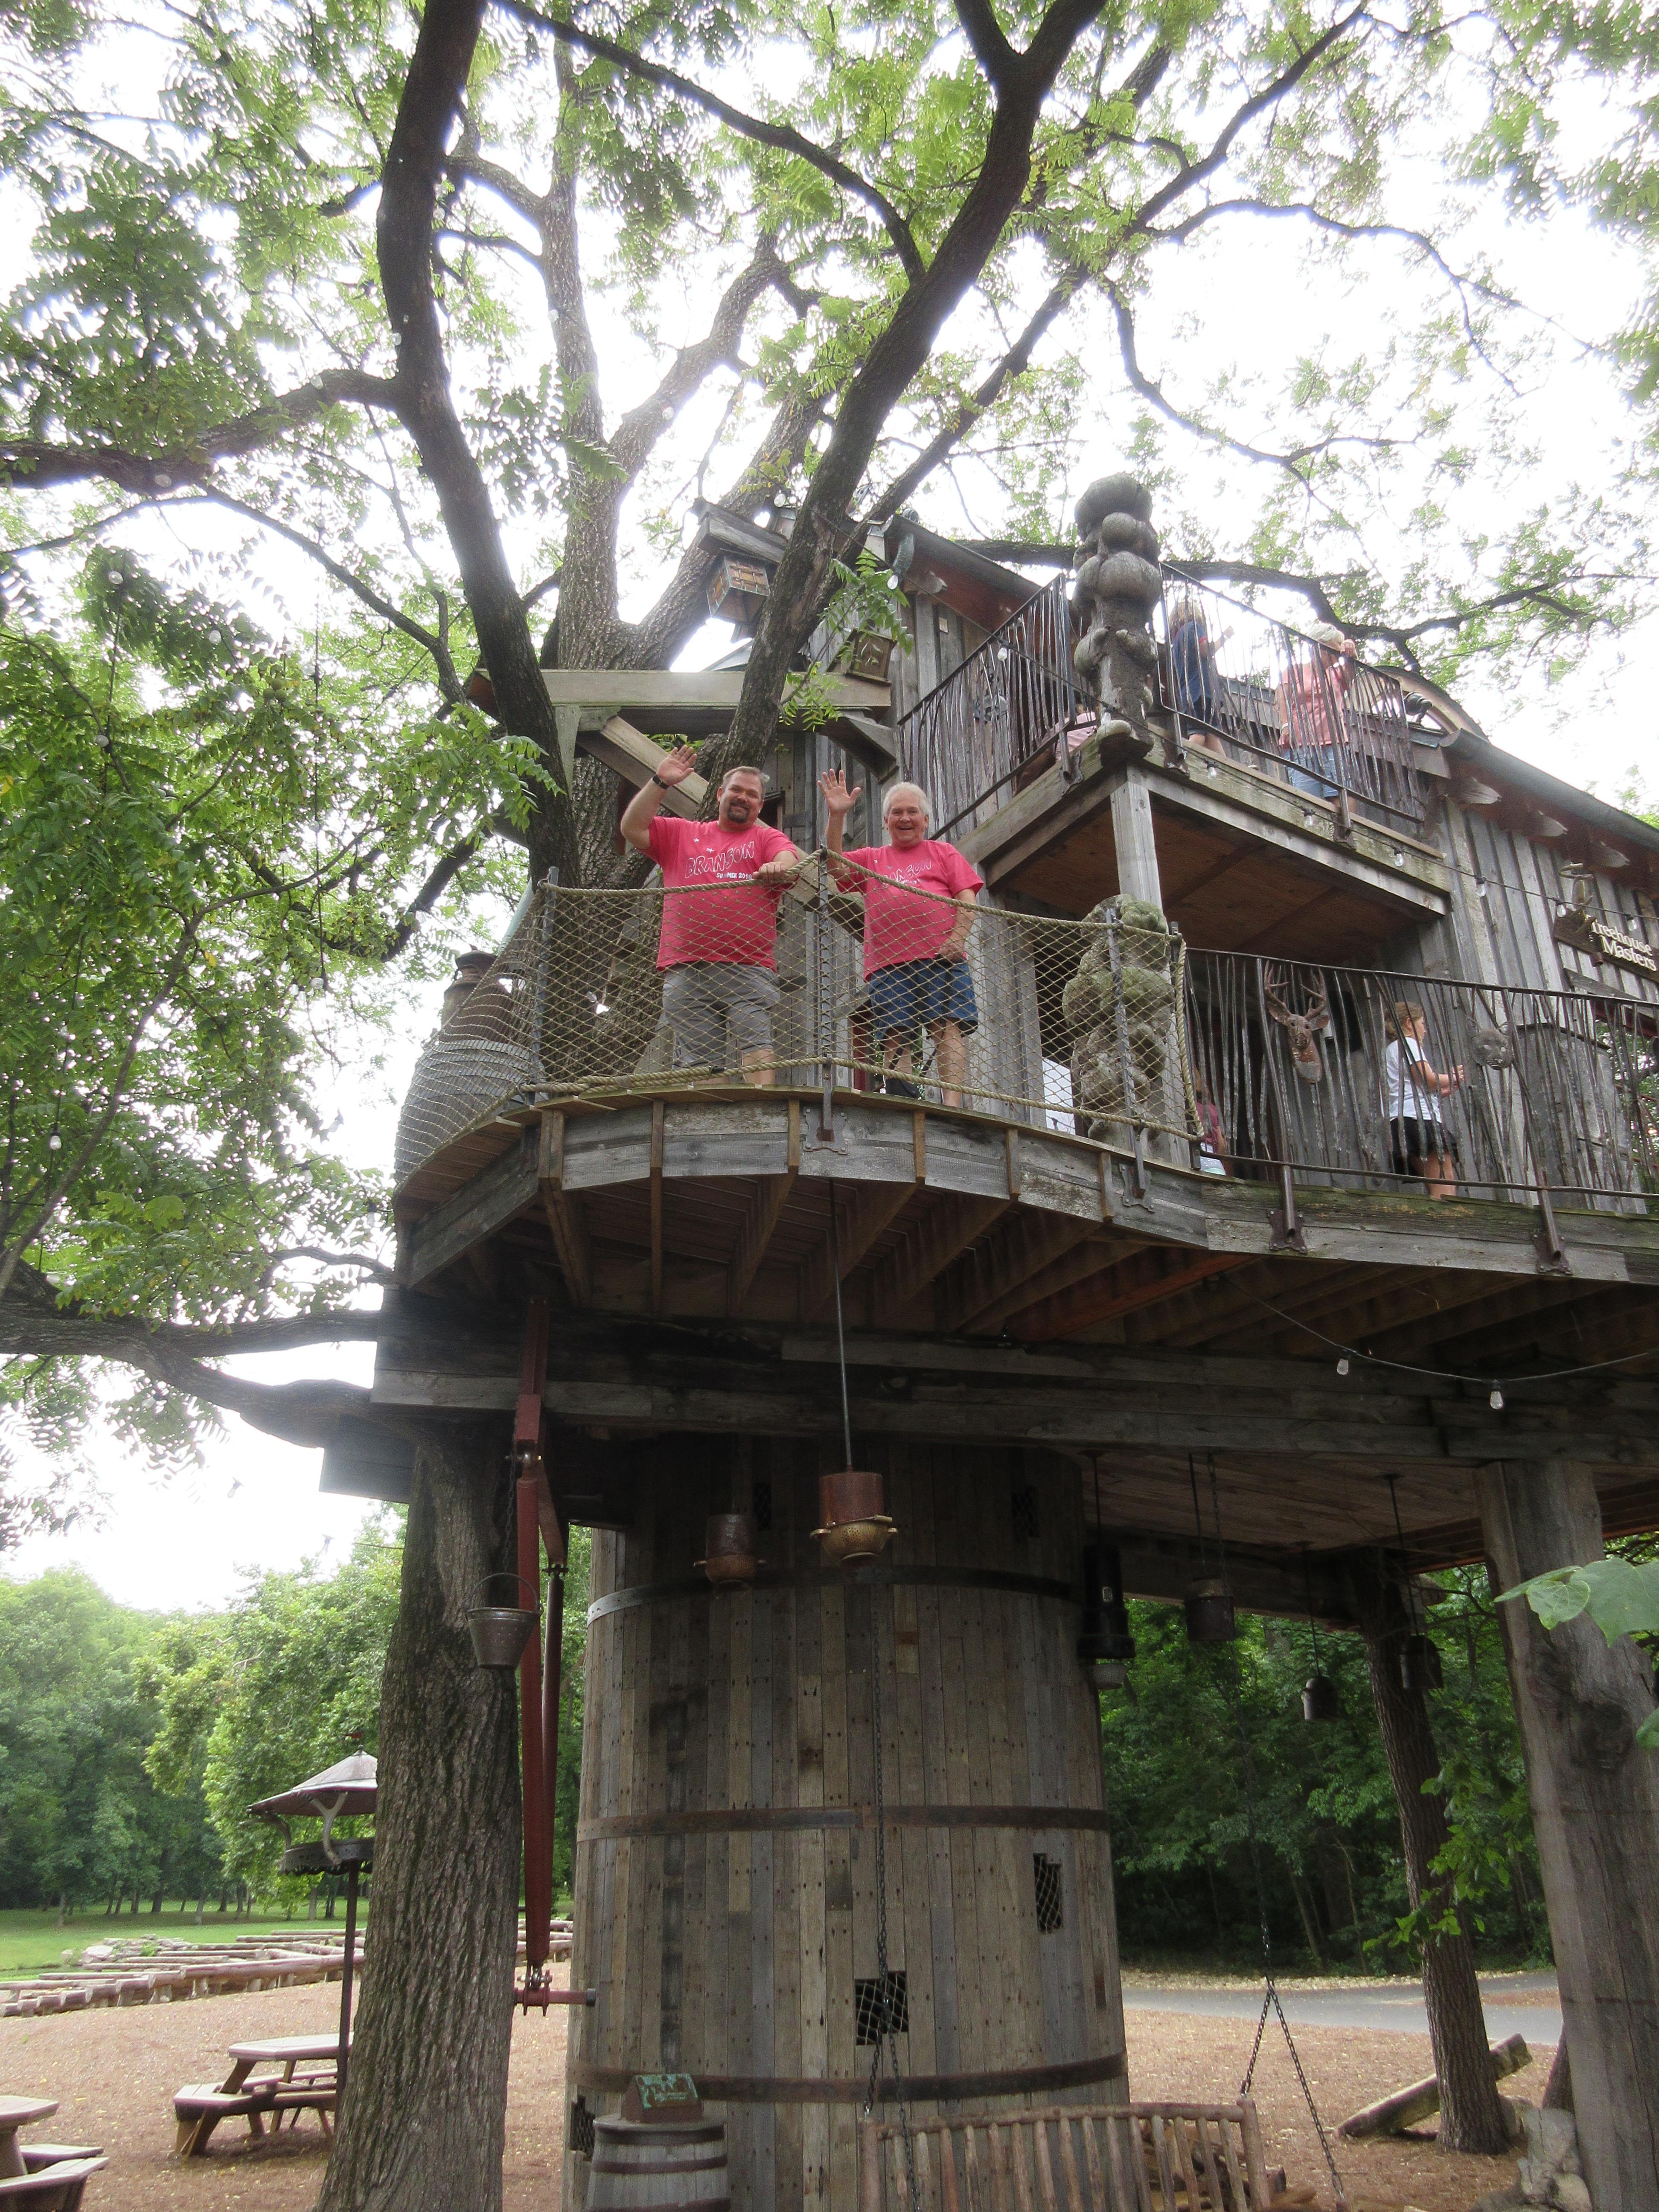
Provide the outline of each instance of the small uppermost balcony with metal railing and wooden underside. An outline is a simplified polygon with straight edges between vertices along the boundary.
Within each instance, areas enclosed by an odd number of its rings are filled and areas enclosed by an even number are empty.
[[[1062,582],[896,730],[907,776],[1002,896],[1084,914],[1119,887],[1113,796],[1150,794],[1161,905],[1201,945],[1374,958],[1449,911],[1398,675],[1164,571],[1157,750],[1102,721]],[[1438,765],[1438,763],[1436,763]]]

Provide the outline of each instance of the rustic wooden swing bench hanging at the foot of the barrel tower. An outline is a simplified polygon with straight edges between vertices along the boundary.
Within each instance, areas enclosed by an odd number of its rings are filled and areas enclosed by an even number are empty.
[[[860,2212],[1267,2212],[1250,2097],[1055,2104],[914,2119],[911,2205],[896,2119],[858,2124]]]

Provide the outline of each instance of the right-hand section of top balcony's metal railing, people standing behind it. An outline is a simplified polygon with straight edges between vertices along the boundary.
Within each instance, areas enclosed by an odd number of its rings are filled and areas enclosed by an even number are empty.
[[[1400,679],[1168,566],[1159,703],[1188,752],[1265,768],[1338,816],[1422,827]]]

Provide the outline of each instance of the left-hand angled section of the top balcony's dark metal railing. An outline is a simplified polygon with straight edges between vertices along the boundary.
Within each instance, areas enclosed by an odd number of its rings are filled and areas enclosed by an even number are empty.
[[[1011,785],[1064,757],[1095,710],[1071,659],[1066,580],[1033,593],[894,732],[909,781],[933,803],[933,836],[969,830]]]

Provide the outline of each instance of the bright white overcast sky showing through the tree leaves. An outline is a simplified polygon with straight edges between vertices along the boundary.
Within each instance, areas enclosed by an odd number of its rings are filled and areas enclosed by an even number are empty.
[[[144,49],[153,51],[153,49]],[[135,62],[137,66],[137,62]],[[137,95],[135,104],[137,104]],[[1604,117],[1593,100],[1584,102],[1575,128],[1586,144],[1597,139]],[[1444,195],[1438,159],[1425,153],[1413,175],[1405,179],[1398,219],[1429,221]],[[1416,199],[1416,206],[1413,206]],[[13,204],[15,206],[15,204]],[[0,212],[7,212],[0,199]],[[1639,292],[1639,270],[1615,243],[1599,237],[1577,217],[1555,217],[1548,226],[1511,228],[1500,217],[1486,217],[1478,243],[1491,254],[1500,276],[1522,296],[1557,316],[1568,327],[1604,334],[1617,327]],[[0,226],[0,283],[9,285],[22,268],[27,234],[18,223]],[[1141,310],[1141,363],[1152,376],[1168,378],[1177,398],[1201,396],[1199,378],[1208,367],[1230,365],[1241,389],[1283,387],[1296,352],[1312,352],[1323,336],[1358,352],[1378,330],[1405,327],[1425,312],[1425,281],[1407,274],[1378,252],[1354,279],[1334,279],[1323,263],[1310,263],[1305,246],[1290,226],[1254,223],[1250,230],[1217,232],[1203,246],[1186,250],[1172,281],[1161,281]],[[1201,341],[1194,345],[1194,305],[1201,303]],[[666,345],[697,336],[708,312],[708,283],[686,270],[679,290],[664,292]],[[617,414],[655,383],[659,367],[641,358],[626,341],[624,327],[604,299],[593,301],[597,338],[606,358],[606,414]],[[679,325],[679,327],[677,327]],[[1088,316],[1086,358],[1113,358],[1115,338],[1104,310]],[[945,343],[951,332],[947,330]],[[1075,343],[1075,327],[1068,343]],[[1104,354],[1099,349],[1106,349]],[[1102,394],[1110,394],[1115,376],[1102,376]],[[1575,478],[1595,484],[1610,467],[1617,440],[1628,425],[1604,369],[1555,349],[1546,372],[1520,394],[1524,425],[1540,456],[1537,482],[1559,484]],[[675,427],[679,458],[695,467],[695,456],[708,438],[719,400],[692,405]],[[1091,476],[1119,462],[1130,429],[1130,411],[1121,400],[1084,398],[1077,425],[1077,465],[1071,493]],[[1186,507],[1210,518],[1212,535],[1228,542],[1225,515],[1230,502],[1248,513],[1250,484],[1232,462],[1181,445],[1172,447],[1186,478]],[[1520,487],[1517,498],[1526,495]],[[1402,509],[1409,502],[1402,498]],[[929,487],[918,507],[925,520],[942,531],[991,533],[1000,526],[993,491],[973,471],[962,478],[962,491],[949,482]],[[1214,520],[1214,518],[1221,520]],[[1469,538],[1495,531],[1509,509],[1480,480],[1460,493],[1458,526]],[[1161,518],[1164,520],[1164,518]],[[184,535],[190,531],[190,538]],[[201,515],[179,522],[146,524],[133,533],[146,560],[181,557],[190,544],[230,544],[239,538],[228,526],[215,529]],[[1168,520],[1166,520],[1168,529]],[[1175,531],[1168,549],[1181,551]],[[1389,538],[1383,531],[1367,549],[1385,568],[1411,555],[1405,531]],[[261,582],[285,606],[296,630],[310,628],[316,606],[316,584],[296,555],[272,546],[261,555]],[[655,597],[659,573],[646,564],[633,571],[633,595],[639,611]],[[270,608],[261,608],[270,619]],[[710,624],[684,655],[690,666],[712,659],[728,641],[723,626]],[[1608,641],[1593,655],[1588,670],[1568,688],[1551,690],[1542,670],[1502,690],[1473,679],[1464,686],[1471,712],[1491,737],[1573,783],[1595,785],[1601,796],[1615,796],[1630,772],[1646,776],[1648,790],[1659,785],[1655,768],[1655,646],[1652,624]],[[500,931],[502,916],[480,916],[480,929]],[[438,989],[411,993],[407,1022],[385,1048],[378,1071],[347,1071],[323,1119],[338,1110],[341,1126],[332,1137],[341,1155],[356,1161],[385,1164],[392,1155],[396,1099],[400,1097],[420,1040],[436,1022]],[[239,1360],[239,1371],[263,1380],[334,1374],[367,1383],[372,1347],[352,1345],[338,1352],[307,1352],[285,1358]],[[299,1566],[321,1557],[338,1559],[369,1506],[319,1495],[321,1453],[296,1451],[248,1429],[234,1416],[226,1433],[206,1449],[204,1467],[192,1475],[157,1480],[148,1467],[117,1444],[102,1458],[104,1513],[62,1537],[38,1537],[4,1559],[11,1575],[35,1575],[49,1566],[84,1566],[113,1597],[133,1606],[219,1606],[239,1579],[270,1566]]]

